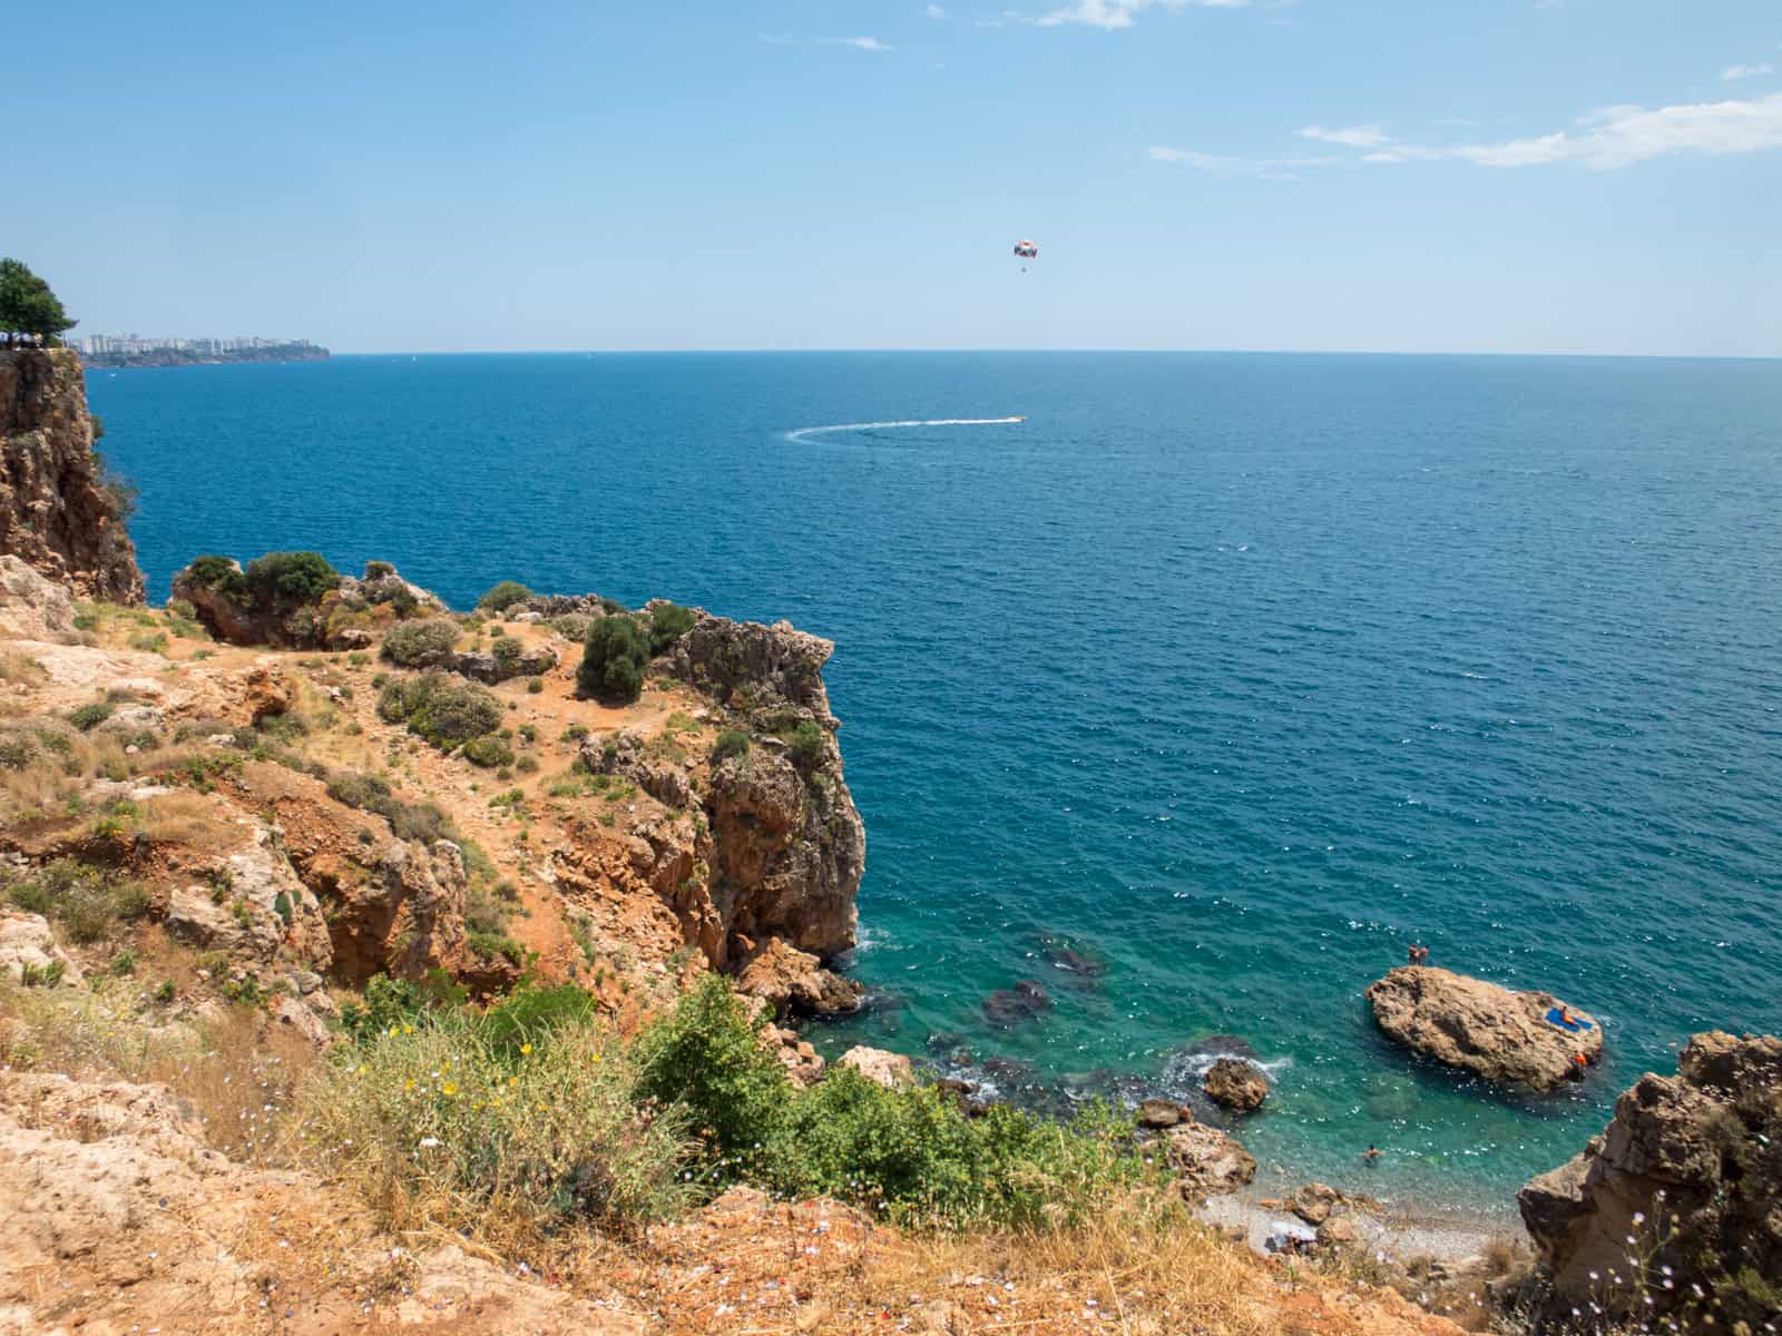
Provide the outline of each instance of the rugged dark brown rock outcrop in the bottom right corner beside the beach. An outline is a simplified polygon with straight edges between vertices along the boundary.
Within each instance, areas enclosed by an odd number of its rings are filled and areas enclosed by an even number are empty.
[[[1686,1331],[1704,1316],[1714,1329],[1773,1331],[1782,1040],[1696,1035],[1677,1076],[1639,1078],[1607,1129],[1524,1186],[1516,1204],[1550,1274],[1556,1316],[1595,1302],[1611,1324],[1638,1311]],[[1622,1283],[1631,1270],[1645,1272],[1643,1293]]]

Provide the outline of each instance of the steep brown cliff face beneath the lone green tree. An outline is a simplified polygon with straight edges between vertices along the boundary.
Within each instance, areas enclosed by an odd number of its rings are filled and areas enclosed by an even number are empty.
[[[93,452],[80,358],[0,349],[0,554],[78,597],[139,604],[125,509]]]

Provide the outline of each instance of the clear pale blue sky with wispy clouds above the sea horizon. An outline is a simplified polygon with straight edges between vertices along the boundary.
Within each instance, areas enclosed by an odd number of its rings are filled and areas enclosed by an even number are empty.
[[[45,116],[7,130],[0,253],[78,333],[1782,356],[1777,0],[102,2],[5,34]]]

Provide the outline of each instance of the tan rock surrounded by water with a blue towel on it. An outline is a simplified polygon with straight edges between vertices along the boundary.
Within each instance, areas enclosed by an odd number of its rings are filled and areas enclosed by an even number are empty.
[[[1602,1026],[1570,1031],[1547,1019],[1563,1006],[1550,992],[1511,992],[1497,983],[1429,965],[1399,965],[1370,985],[1374,1021],[1426,1058],[1502,1085],[1552,1090],[1574,1076],[1577,1058],[1602,1056]]]

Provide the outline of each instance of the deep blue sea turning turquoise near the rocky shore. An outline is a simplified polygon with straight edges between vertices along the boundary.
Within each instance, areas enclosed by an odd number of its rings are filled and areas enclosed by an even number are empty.
[[[834,1042],[950,1031],[1094,1087],[1238,1035],[1278,1079],[1265,1165],[1504,1206],[1693,1030],[1782,1030],[1782,363],[364,356],[89,388],[157,597],[200,552],[315,547],[458,606],[515,577],[832,638],[855,967],[891,1003]],[[1415,937],[1602,1015],[1606,1071],[1506,1101],[1413,1069],[1360,992]],[[991,1030],[1019,978],[1053,1010]]]

